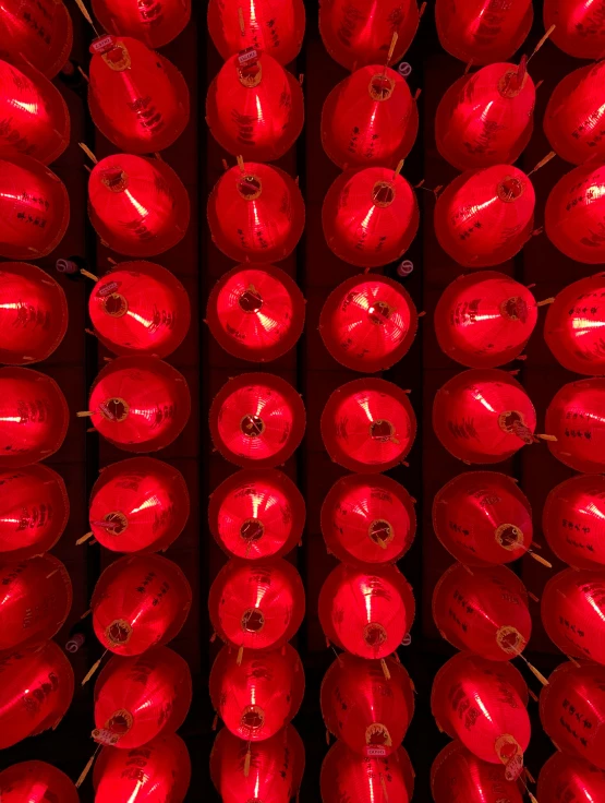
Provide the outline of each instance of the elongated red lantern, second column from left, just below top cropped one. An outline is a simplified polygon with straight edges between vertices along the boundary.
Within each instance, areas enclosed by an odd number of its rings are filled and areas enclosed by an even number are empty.
[[[88,108],[101,134],[133,154],[172,145],[189,122],[189,89],[174,64],[130,36],[104,36],[90,52]]]

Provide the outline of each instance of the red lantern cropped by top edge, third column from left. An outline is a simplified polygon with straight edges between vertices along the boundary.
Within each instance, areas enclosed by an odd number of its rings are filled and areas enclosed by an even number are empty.
[[[299,55],[304,36],[303,0],[210,0],[208,31],[223,59],[247,48],[280,64]]]

